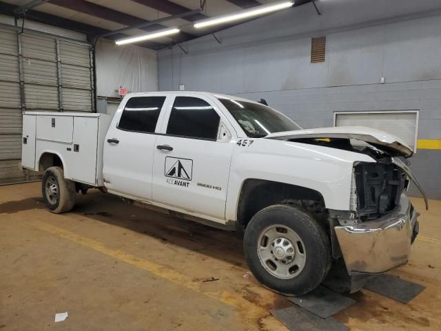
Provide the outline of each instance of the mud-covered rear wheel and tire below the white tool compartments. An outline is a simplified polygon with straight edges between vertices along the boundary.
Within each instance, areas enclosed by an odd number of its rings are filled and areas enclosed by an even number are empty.
[[[75,182],[64,178],[62,168],[50,167],[43,174],[41,192],[46,207],[54,214],[68,212],[75,204]]]

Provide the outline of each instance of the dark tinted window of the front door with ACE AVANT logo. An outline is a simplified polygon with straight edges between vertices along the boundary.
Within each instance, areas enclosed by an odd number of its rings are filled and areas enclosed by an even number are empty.
[[[205,100],[176,97],[167,123],[167,135],[216,141],[220,117]]]

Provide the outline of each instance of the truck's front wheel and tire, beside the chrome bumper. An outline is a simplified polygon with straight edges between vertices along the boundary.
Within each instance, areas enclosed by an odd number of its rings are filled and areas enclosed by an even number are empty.
[[[254,277],[282,294],[311,292],[331,267],[325,230],[292,205],[271,205],[255,214],[245,229],[243,246]]]

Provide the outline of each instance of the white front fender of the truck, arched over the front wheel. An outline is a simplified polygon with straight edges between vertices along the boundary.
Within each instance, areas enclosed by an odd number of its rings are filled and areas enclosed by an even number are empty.
[[[251,178],[316,190],[326,208],[349,210],[357,161],[376,162],[366,154],[289,141],[256,139],[249,147],[238,146],[232,156],[225,217],[236,220],[240,190]]]

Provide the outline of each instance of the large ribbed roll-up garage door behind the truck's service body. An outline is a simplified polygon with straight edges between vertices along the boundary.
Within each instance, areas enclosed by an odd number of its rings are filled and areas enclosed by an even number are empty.
[[[0,27],[0,184],[37,179],[21,169],[24,110],[94,112],[91,63],[86,43]]]

